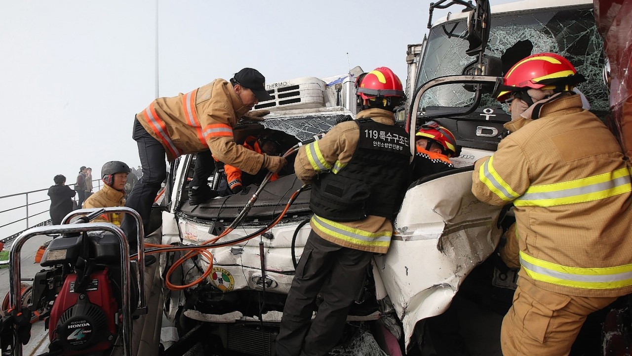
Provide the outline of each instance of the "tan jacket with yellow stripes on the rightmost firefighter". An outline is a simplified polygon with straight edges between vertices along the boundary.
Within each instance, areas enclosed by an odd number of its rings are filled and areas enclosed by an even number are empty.
[[[632,186],[611,132],[578,95],[505,127],[514,133],[476,162],[472,193],[514,203],[519,276],[566,295],[632,292]]]

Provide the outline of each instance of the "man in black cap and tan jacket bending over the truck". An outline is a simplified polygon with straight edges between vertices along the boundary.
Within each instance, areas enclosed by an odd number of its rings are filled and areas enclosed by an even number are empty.
[[[178,156],[198,153],[193,180],[188,184],[192,205],[217,196],[207,182],[215,167],[213,156],[249,174],[262,169],[277,172],[287,163],[283,157],[262,155],[233,141],[233,127],[240,118],[260,100],[270,99],[264,76],[255,69],[243,68],[230,82],[216,79],[186,94],[155,99],[136,115],[133,139],[138,144],[143,177],[131,191],[126,207],[140,213],[145,229],[154,198],[166,177],[165,154],[171,162]],[[135,221],[125,219],[122,227],[130,245],[135,246]]]

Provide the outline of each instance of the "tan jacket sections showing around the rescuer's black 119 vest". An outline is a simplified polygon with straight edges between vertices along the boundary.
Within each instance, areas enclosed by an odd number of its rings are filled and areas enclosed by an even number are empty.
[[[394,125],[391,111],[382,109],[363,110],[357,119],[370,117],[375,122]],[[301,147],[296,155],[294,170],[296,177],[305,183],[319,173],[322,164],[311,162],[307,148],[313,146],[319,160],[327,162],[327,167],[344,167],[358,146],[360,129],[355,122],[343,122],[332,127],[317,143]],[[324,163],[323,162],[323,163]],[[391,244],[393,226],[386,217],[368,215],[365,219],[352,222],[336,222],[313,215],[310,221],[312,230],[321,238],[337,245],[355,248],[356,250],[386,253]]]

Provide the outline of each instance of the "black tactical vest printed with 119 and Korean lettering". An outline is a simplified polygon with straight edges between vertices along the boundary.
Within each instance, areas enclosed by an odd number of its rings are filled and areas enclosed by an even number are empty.
[[[339,172],[312,181],[312,211],[334,221],[362,220],[368,215],[393,219],[408,186],[410,139],[404,129],[370,118],[355,121],[360,140]]]

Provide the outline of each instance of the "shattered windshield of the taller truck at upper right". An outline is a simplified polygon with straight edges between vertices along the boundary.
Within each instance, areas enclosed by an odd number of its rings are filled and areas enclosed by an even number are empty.
[[[468,48],[465,31],[465,19],[430,30],[416,87],[436,77],[459,75],[475,59],[465,54]],[[606,111],[609,104],[601,75],[603,51],[591,6],[590,9],[545,9],[492,16],[485,54],[502,58],[504,72],[533,53],[561,54],[586,77],[586,82],[578,89],[586,95],[592,110]],[[474,94],[461,86],[440,86],[424,94],[420,109],[427,106],[468,107],[473,101]],[[481,106],[501,108],[490,94],[483,94]]]

